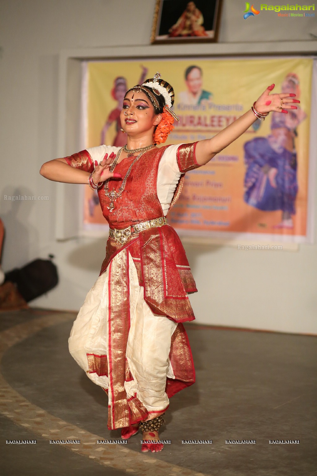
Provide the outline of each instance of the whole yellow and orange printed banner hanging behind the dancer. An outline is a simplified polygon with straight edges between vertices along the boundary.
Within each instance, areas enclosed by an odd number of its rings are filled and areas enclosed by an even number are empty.
[[[125,91],[156,71],[172,84],[180,118],[166,144],[213,137],[275,83],[274,92],[296,93],[298,109],[257,120],[208,164],[187,172],[168,221],[181,235],[307,242],[312,66],[309,58],[89,61],[86,147],[125,145]],[[84,199],[84,227],[107,226],[96,192],[86,187]]]

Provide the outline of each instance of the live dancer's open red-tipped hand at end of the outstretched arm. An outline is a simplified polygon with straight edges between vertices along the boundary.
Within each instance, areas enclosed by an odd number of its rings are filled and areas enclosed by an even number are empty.
[[[259,112],[284,112],[288,113],[287,109],[297,109],[297,106],[293,106],[292,103],[300,101],[298,99],[293,99],[296,97],[294,93],[284,93],[279,94],[270,94],[272,89],[274,89],[275,84],[271,84],[264,93],[261,94],[259,99],[256,100],[254,107]]]

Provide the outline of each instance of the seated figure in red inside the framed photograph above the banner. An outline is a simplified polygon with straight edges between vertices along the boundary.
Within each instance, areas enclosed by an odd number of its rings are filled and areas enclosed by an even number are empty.
[[[202,12],[198,10],[193,1],[190,1],[175,25],[168,30],[169,36],[208,36],[202,26],[203,21]]]

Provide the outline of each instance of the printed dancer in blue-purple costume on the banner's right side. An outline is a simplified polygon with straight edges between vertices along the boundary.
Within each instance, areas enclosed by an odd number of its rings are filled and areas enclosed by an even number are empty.
[[[299,98],[297,74],[289,73],[285,77],[282,92],[295,93]],[[269,136],[256,137],[244,144],[247,167],[244,200],[259,210],[281,210],[281,221],[273,228],[294,227],[292,215],[296,214],[298,192],[295,138],[298,124],[305,118],[306,113],[300,107],[288,114],[273,112]]]

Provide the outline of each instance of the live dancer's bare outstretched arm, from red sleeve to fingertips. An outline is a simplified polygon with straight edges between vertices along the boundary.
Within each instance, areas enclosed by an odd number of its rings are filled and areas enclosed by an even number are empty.
[[[274,84],[269,86],[254,103],[256,111],[263,115],[271,111],[287,114],[287,109],[297,109],[297,106],[292,105],[294,102],[300,102],[298,99],[294,99],[296,95],[294,93],[269,94],[274,86]],[[231,142],[238,139],[257,119],[258,117],[250,109],[211,139],[198,141],[195,151],[197,162],[200,165],[209,162]]]

